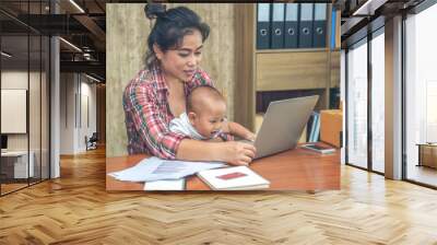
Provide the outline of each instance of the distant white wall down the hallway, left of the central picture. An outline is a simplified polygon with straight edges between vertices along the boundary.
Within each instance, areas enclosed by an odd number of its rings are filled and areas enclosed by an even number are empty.
[[[96,85],[91,82],[83,74],[61,73],[60,154],[86,151],[85,136],[96,131]]]

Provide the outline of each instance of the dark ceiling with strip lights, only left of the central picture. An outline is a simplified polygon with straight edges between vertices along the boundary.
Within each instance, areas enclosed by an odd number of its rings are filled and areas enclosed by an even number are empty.
[[[13,55],[2,66],[20,67],[28,62],[32,69],[48,50],[39,47],[42,36],[58,35],[62,37],[61,72],[84,72],[104,82],[106,2],[110,1],[51,0],[50,5],[49,0],[1,0],[1,47]]]

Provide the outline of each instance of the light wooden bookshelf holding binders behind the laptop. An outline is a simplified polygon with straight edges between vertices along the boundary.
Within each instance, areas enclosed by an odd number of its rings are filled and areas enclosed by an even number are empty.
[[[334,49],[329,48],[331,5],[328,9],[326,48],[257,50],[257,4],[236,5],[235,44],[239,51],[236,54],[235,121],[252,130],[259,127],[262,120],[257,116],[257,94],[258,98],[260,94],[274,96],[284,92],[290,92],[291,97],[319,94],[316,109],[329,108],[330,89],[340,86],[340,38],[335,37]],[[339,11],[336,15],[340,16]],[[340,27],[339,18],[336,23]]]

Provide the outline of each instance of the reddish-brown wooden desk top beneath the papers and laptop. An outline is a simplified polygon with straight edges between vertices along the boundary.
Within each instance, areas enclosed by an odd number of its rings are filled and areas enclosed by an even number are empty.
[[[147,155],[106,159],[106,173],[135,165]],[[340,150],[322,155],[306,149],[294,149],[253,161],[250,168],[269,179],[270,190],[340,189]],[[143,190],[143,183],[120,182],[106,175],[107,190]],[[200,178],[187,178],[187,190],[211,190]]]

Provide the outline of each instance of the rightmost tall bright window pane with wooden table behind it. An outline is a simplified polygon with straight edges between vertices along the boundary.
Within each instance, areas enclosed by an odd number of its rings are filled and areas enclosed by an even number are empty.
[[[406,179],[437,186],[437,4],[405,20]]]

